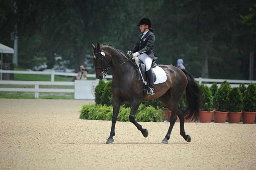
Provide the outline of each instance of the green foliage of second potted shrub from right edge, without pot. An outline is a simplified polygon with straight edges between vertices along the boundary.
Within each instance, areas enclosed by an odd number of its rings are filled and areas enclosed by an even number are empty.
[[[243,108],[242,93],[237,87],[232,88],[230,90],[228,107],[230,112],[242,111],[242,108]]]

